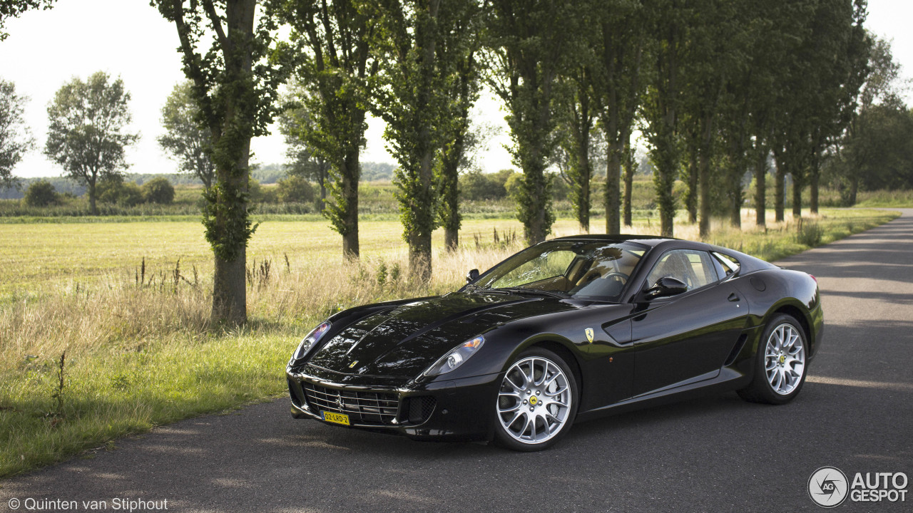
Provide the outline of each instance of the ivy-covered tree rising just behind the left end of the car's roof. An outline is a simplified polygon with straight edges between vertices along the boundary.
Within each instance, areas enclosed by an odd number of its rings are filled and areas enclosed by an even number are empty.
[[[554,0],[493,0],[488,5],[488,86],[507,107],[513,162],[522,171],[518,218],[528,244],[555,220],[545,168],[554,152],[553,99],[571,60],[585,5]]]

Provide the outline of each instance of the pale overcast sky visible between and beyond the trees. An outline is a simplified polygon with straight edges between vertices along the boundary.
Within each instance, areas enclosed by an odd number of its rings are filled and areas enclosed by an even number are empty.
[[[866,26],[880,37],[894,40],[894,58],[905,77],[913,76],[913,2],[869,0]],[[155,139],[162,134],[162,105],[175,83],[184,79],[176,51],[177,34],[148,0],[58,0],[49,11],[32,11],[8,20],[9,37],[0,42],[0,77],[13,81],[19,94],[30,98],[26,123],[38,149],[20,162],[17,176],[57,176],[61,170],[47,161],[41,149],[47,135],[47,104],[55,91],[72,77],[87,78],[95,71],[120,76],[131,93],[132,130],[141,140],[127,153],[131,173],[173,173],[175,164]],[[908,104],[913,92],[908,91]],[[504,112],[488,96],[479,101],[477,120],[501,127],[482,155],[485,171],[511,167],[502,145],[509,142]],[[383,143],[383,121],[370,120],[368,146],[362,161],[394,162]],[[260,163],[284,162],[281,136],[257,138],[252,144]]]

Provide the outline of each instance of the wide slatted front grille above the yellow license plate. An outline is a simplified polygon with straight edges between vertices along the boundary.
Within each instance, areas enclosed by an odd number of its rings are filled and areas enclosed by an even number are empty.
[[[347,414],[354,424],[394,424],[399,409],[395,393],[354,392],[301,382],[311,410]]]

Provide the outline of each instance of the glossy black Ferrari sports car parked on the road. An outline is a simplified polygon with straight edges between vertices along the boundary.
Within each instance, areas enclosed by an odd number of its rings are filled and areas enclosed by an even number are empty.
[[[296,418],[537,450],[574,421],[693,393],[786,403],[823,327],[803,272],[697,242],[570,236],[444,296],[341,311],[286,373]]]

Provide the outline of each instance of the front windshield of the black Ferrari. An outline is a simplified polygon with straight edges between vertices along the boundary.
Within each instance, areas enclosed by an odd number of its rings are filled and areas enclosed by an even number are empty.
[[[630,242],[548,241],[508,258],[473,285],[614,301],[646,249]]]

